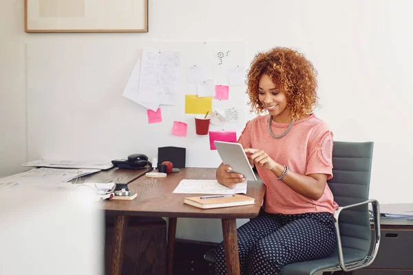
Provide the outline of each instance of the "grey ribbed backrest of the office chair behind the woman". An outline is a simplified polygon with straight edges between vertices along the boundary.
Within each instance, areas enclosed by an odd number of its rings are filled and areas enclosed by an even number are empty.
[[[348,206],[368,199],[372,167],[373,142],[334,142],[332,173],[328,181],[339,206]],[[370,222],[368,206],[343,210],[339,217],[343,250],[370,249]]]

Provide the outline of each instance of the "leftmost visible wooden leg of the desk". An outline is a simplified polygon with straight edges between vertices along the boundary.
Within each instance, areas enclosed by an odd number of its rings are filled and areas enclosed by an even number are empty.
[[[116,215],[114,236],[112,239],[112,262],[110,265],[110,275],[122,274],[123,254],[128,223],[128,216]]]

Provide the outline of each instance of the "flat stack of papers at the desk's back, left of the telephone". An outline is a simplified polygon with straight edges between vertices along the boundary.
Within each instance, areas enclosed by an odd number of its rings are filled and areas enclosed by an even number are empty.
[[[78,168],[78,169],[101,169],[106,170],[114,165],[107,159],[96,160],[67,160],[67,159],[37,159],[26,162],[22,166],[50,167],[50,168]]]

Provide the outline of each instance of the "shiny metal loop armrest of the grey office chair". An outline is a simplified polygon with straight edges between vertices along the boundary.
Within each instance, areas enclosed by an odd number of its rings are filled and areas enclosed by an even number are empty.
[[[347,267],[346,264],[344,263],[344,257],[343,257],[343,248],[341,247],[341,236],[340,236],[340,228],[339,228],[339,215],[342,210],[348,209],[348,208],[353,208],[356,206],[362,206],[364,204],[372,203],[372,208],[373,208],[373,222],[374,222],[374,245],[373,248],[370,250],[370,254],[366,257],[366,259],[361,263],[357,263],[356,265],[351,265],[351,267]],[[341,267],[341,270],[344,272],[350,272],[352,270],[358,270],[361,267],[366,267],[368,265],[371,265],[374,261],[374,258],[376,258],[377,251],[379,250],[379,244],[380,244],[380,208],[379,208],[379,201],[376,199],[368,199],[367,201],[363,201],[361,203],[354,203],[351,204],[350,206],[343,206],[339,207],[335,213],[334,213],[334,225],[335,225],[335,230],[337,233],[337,248],[339,252],[339,265]]]

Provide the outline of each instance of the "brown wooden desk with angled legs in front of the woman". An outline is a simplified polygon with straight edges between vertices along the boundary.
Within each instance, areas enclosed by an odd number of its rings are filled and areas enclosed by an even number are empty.
[[[106,212],[116,214],[114,252],[111,275],[118,275],[122,268],[123,239],[127,230],[128,216],[141,217],[169,217],[167,273],[172,274],[173,246],[175,243],[177,218],[215,218],[222,219],[222,233],[226,257],[226,268],[229,275],[240,274],[238,258],[237,225],[236,219],[257,217],[264,199],[265,186],[262,181],[248,182],[247,194],[255,198],[251,206],[237,206],[233,208],[218,208],[201,210],[184,204],[184,197],[191,194],[173,194],[173,190],[182,179],[215,179],[215,168],[182,168],[180,173],[171,173],[165,178],[140,177],[129,184],[129,190],[138,193],[132,201],[105,201],[103,207]],[[115,245],[116,243],[116,245]]]

